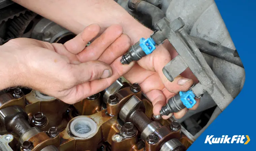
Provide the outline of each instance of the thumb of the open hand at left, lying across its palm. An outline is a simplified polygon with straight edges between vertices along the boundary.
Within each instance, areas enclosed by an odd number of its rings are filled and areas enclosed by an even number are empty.
[[[72,72],[75,75],[76,84],[81,84],[100,78],[109,78],[112,75],[112,68],[105,62],[94,60],[72,65]]]

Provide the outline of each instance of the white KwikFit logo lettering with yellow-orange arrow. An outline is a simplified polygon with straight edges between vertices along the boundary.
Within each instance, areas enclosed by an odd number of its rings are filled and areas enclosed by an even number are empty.
[[[248,144],[250,142],[250,138],[248,135],[234,135],[232,137],[228,137],[228,135],[222,135],[222,137],[214,137],[214,135],[207,135],[204,141],[205,144]]]

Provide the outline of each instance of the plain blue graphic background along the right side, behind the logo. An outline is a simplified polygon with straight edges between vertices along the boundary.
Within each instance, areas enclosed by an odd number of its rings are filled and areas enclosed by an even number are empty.
[[[246,79],[241,93],[216,118],[188,151],[255,150],[256,141],[256,1],[215,0],[237,52],[245,67]],[[254,96],[255,95],[255,96]],[[204,144],[207,135],[249,135],[247,144]],[[247,139],[245,139],[246,141]]]

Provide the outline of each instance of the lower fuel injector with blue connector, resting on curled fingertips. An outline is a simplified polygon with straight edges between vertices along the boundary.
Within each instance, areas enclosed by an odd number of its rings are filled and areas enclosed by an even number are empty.
[[[192,108],[195,104],[195,94],[191,90],[187,92],[181,91],[168,100],[167,104],[160,110],[160,114],[169,115],[172,112],[179,112],[185,107]]]

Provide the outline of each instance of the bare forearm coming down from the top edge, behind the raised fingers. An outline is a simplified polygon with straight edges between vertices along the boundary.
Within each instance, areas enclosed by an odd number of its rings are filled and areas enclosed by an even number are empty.
[[[149,37],[151,30],[134,19],[114,0],[13,0],[78,34],[86,26],[98,23],[101,30],[111,24],[121,24],[132,43]]]

